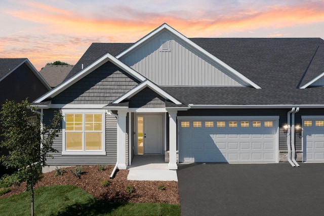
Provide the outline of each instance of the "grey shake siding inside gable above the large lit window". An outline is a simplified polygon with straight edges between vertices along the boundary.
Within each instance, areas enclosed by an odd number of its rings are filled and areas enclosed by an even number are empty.
[[[139,82],[107,62],[52,99],[52,103],[108,104]]]

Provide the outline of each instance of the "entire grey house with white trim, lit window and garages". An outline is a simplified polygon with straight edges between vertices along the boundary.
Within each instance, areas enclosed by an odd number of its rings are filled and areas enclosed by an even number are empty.
[[[166,151],[170,169],[324,162],[323,75],[319,38],[188,39],[163,24],[134,44],[92,44],[34,105],[45,121],[65,116],[52,166],[126,169]]]

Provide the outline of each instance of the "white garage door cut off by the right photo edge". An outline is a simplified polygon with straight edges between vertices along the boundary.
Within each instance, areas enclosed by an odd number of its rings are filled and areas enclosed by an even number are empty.
[[[303,160],[324,162],[324,117],[302,117]]]

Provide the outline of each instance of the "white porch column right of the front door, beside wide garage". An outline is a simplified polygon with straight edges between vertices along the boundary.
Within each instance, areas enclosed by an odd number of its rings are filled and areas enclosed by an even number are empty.
[[[177,165],[177,113],[169,111],[169,169],[178,169]]]

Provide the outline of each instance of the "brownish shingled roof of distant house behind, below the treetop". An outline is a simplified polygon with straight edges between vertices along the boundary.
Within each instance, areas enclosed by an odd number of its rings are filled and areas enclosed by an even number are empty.
[[[44,77],[48,84],[54,88],[61,84],[66,76],[70,73],[73,65],[45,65],[45,67],[39,70],[39,74]]]

